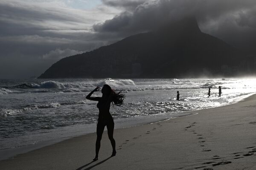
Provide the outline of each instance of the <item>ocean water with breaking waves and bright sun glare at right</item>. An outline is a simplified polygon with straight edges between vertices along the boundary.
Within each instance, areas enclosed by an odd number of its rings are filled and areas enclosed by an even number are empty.
[[[124,105],[111,106],[116,128],[228,105],[256,92],[256,79],[0,79],[0,150],[95,132],[98,109],[85,96],[104,84],[126,96]]]

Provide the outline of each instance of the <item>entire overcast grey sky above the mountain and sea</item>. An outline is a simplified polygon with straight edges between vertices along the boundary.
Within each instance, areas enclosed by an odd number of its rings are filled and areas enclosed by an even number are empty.
[[[204,33],[255,48],[256,0],[0,0],[0,78],[39,76],[63,57],[188,16]]]

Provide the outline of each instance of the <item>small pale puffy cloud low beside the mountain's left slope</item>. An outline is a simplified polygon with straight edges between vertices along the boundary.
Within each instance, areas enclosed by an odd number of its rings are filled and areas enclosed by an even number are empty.
[[[76,54],[82,54],[84,51],[76,51],[71,50],[69,48],[61,50],[60,48],[56,48],[55,50],[50,51],[47,54],[43,55],[43,59],[62,59],[64,57],[73,56]]]

